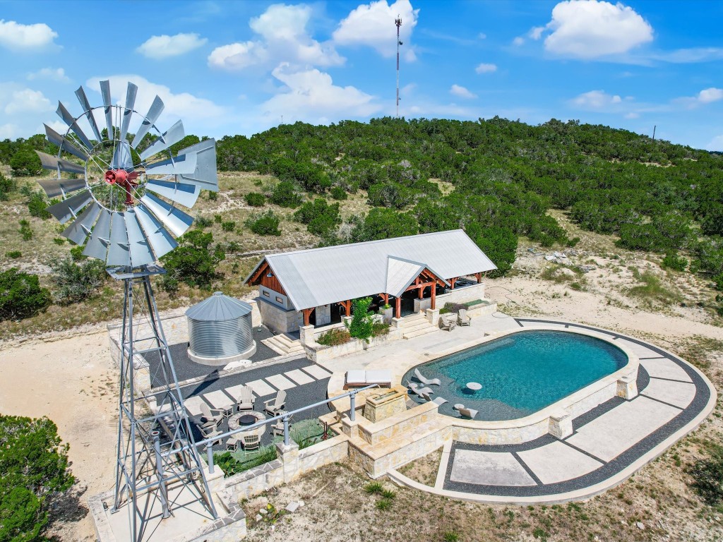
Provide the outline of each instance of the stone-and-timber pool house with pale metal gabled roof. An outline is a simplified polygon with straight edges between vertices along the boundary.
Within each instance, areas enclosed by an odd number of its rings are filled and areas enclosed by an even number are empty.
[[[269,254],[244,283],[259,286],[267,327],[296,332],[350,315],[351,301],[360,297],[393,306],[396,318],[435,309],[437,296],[474,285],[448,301],[483,298],[482,274],[495,269],[464,231],[453,230]]]

